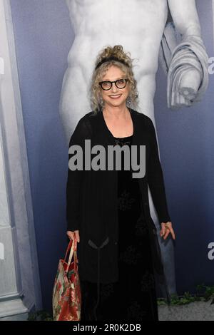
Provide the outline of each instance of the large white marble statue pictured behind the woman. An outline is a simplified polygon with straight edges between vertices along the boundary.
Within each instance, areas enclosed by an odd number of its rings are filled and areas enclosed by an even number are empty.
[[[107,45],[121,44],[135,59],[138,111],[148,115],[155,126],[153,98],[158,59],[167,74],[168,108],[190,106],[203,98],[208,86],[208,56],[195,0],[66,0],[66,4],[75,34],[59,103],[67,143],[78,120],[91,111],[88,88],[93,62]],[[169,12],[173,24],[166,25]],[[150,190],[149,202],[159,230]],[[160,245],[169,292],[175,293],[173,242],[160,241]]]

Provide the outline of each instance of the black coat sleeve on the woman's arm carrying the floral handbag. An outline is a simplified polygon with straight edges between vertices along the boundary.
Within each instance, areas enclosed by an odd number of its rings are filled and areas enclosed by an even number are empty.
[[[86,121],[81,118],[81,120],[78,121],[73,134],[71,135],[68,151],[69,148],[71,148],[71,145],[80,145],[83,150],[84,158],[84,145],[86,138],[89,138],[88,126]],[[73,155],[76,155],[76,152],[73,154],[68,153],[68,163]],[[66,220],[67,230],[70,231],[79,230],[83,173],[84,170],[71,170],[68,166],[68,178],[66,184]]]

